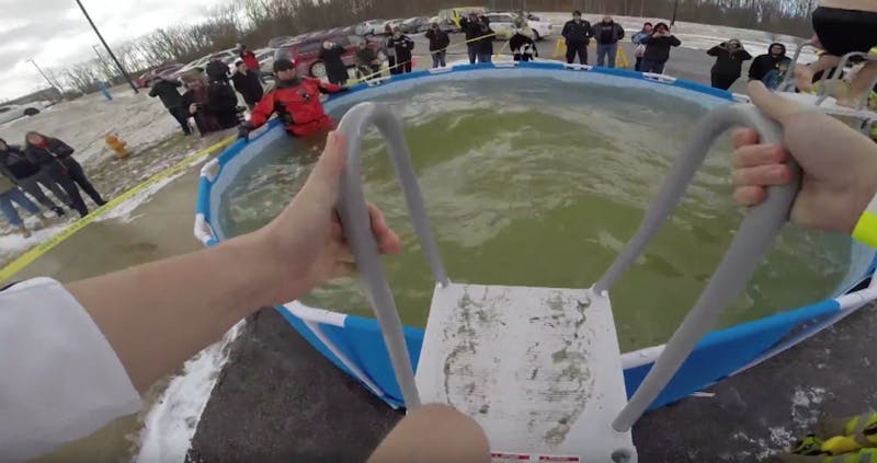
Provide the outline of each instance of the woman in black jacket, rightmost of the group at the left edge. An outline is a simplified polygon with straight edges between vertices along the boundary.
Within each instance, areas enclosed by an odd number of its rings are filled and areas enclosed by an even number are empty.
[[[91,199],[98,206],[106,204],[101,194],[89,182],[82,171],[82,166],[72,158],[73,149],[67,143],[35,131],[29,131],[24,140],[27,143],[24,149],[24,155],[29,161],[39,166],[41,171],[52,176],[67,192],[73,209],[81,217],[88,216],[89,209],[86,207],[82,196],[79,195],[77,184],[86,194],[91,196]]]

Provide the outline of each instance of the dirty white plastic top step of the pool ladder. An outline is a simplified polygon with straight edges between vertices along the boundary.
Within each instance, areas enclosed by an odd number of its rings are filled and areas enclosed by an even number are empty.
[[[607,298],[591,290],[436,286],[418,363],[423,403],[475,418],[491,449],[635,461],[610,423],[627,402]]]

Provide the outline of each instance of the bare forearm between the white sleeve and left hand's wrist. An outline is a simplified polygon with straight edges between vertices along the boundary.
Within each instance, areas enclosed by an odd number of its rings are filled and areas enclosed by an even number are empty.
[[[271,302],[276,269],[254,235],[69,285],[138,391]]]

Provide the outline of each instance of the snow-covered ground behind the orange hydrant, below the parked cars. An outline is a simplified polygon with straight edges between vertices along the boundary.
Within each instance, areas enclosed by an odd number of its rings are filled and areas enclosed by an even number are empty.
[[[111,92],[113,101],[101,94],[86,95],[2,125],[0,138],[23,144],[27,131],[39,131],[76,148],[76,158],[81,162],[109,157],[104,138],[110,134],[116,134],[136,150],[180,130],[161,102],[147,95],[148,90],[135,94],[128,86],[115,86]]]

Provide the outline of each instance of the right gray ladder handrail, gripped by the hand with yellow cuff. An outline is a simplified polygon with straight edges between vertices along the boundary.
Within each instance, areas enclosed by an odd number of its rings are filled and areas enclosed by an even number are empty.
[[[646,212],[636,234],[594,286],[596,291],[608,291],[642,254],[648,242],[658,233],[672,209],[679,204],[711,146],[725,131],[734,126],[758,130],[764,143],[783,142],[783,130],[779,125],[767,119],[755,106],[737,104],[709,113],[695,128],[694,138],[685,151],[674,161],[667,182]],[[786,222],[798,193],[799,169],[793,162],[789,162],[789,166],[794,172],[794,182],[790,185],[771,188],[765,202],[749,210],[706,288],[627,406],[613,421],[615,430],[626,432],[634,426],[673,379],[697,342],[713,329],[719,314],[745,287]]]

